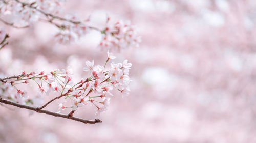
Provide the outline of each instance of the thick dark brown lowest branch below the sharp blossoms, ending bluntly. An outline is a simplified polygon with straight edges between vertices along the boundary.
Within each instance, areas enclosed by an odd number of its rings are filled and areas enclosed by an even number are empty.
[[[16,106],[16,107],[19,107],[19,108],[25,108],[25,109],[33,110],[33,111],[36,111],[38,113],[45,113],[45,114],[52,115],[52,116],[55,116],[55,117],[62,117],[62,118],[67,118],[67,119],[75,120],[75,121],[82,122],[82,123],[85,123],[85,124],[87,124],[87,123],[88,124],[95,124],[95,123],[102,122],[99,119],[84,120],[84,119],[77,118],[77,117],[71,117],[69,115],[63,115],[63,114],[60,114],[60,113],[51,112],[51,111],[48,111],[48,110],[42,110],[42,109],[38,110],[38,108],[36,108],[36,107],[31,107],[31,106],[27,106],[27,105],[18,104],[18,103],[15,103],[15,102],[4,100],[2,98],[0,98],[0,102],[4,103],[4,104],[8,104],[8,105],[13,105],[13,106]]]

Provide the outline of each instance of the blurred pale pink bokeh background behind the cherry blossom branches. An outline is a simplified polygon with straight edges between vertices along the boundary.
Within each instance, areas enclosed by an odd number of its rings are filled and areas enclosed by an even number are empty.
[[[67,1],[64,13],[137,26],[140,47],[115,59],[133,63],[132,92],[115,93],[100,117],[93,106],[75,113],[103,121],[95,125],[0,106],[0,142],[256,142],[256,1]],[[47,23],[1,26],[11,36],[0,51],[6,75],[70,65],[79,78],[86,60],[103,65],[106,59],[94,31],[63,45]],[[47,109],[56,111],[58,103]]]

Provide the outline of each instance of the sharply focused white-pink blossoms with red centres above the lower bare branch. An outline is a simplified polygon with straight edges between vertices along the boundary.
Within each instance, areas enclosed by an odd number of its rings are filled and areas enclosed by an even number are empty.
[[[106,68],[106,64],[114,59],[112,53],[108,51],[108,59],[104,66],[94,65],[94,61],[86,61],[86,67],[83,71],[89,72],[88,78],[82,78],[79,82],[73,81],[73,70],[71,67],[62,70],[54,70],[49,74],[40,72],[38,74],[31,72],[23,72],[15,80],[2,80],[0,85],[0,97],[8,98],[20,104],[30,104],[39,107],[44,102],[44,96],[51,92],[59,93],[59,97],[66,97],[71,100],[71,105],[60,103],[58,112],[71,108],[77,110],[78,107],[93,104],[97,107],[97,115],[105,111],[110,103],[110,97],[113,89],[121,94],[128,95],[130,92],[129,85],[131,79],[129,70],[132,64],[127,60],[122,63],[110,63],[110,67]],[[38,87],[38,95],[29,98],[27,91],[18,88],[18,84],[30,84],[35,82]]]

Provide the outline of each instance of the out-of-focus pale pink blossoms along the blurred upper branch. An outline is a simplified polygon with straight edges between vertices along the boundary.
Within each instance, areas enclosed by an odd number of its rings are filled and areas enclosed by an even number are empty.
[[[130,45],[139,46],[141,39],[137,36],[136,28],[130,23],[117,21],[110,24],[110,18],[108,17],[106,26],[100,29],[89,26],[87,22],[90,21],[90,18],[81,22],[76,16],[66,15],[65,18],[62,18],[53,15],[62,11],[61,8],[64,2],[65,0],[0,0],[0,14],[8,15],[9,20],[13,19],[9,23],[12,26],[19,24],[27,27],[39,20],[49,22],[58,28],[59,32],[56,33],[55,37],[61,43],[79,40],[87,34],[88,30],[93,29],[102,34],[100,47],[119,50]]]

